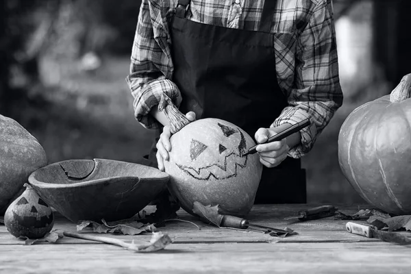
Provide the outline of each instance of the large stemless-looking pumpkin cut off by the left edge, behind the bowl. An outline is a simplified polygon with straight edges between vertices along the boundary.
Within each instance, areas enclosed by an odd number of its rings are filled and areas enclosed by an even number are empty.
[[[0,214],[23,192],[30,173],[46,164],[46,153],[36,138],[0,115]]]

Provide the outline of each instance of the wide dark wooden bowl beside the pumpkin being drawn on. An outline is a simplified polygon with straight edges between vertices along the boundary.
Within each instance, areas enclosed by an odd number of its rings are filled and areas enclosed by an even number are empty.
[[[66,160],[34,171],[29,183],[67,219],[128,219],[166,188],[169,175],[114,160]]]

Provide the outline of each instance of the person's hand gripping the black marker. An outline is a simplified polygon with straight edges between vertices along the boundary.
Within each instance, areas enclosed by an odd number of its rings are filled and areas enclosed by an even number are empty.
[[[263,144],[277,133],[278,132],[273,128],[260,128],[254,136],[256,141],[262,144],[256,147],[258,155],[260,155],[260,162],[269,168],[281,164],[281,162],[287,158],[287,153],[290,149],[287,145],[286,138]]]

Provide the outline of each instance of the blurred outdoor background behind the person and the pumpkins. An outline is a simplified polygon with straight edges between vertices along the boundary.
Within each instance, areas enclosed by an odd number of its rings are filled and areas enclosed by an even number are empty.
[[[49,163],[134,162],[153,132],[134,119],[125,83],[139,0],[1,0],[0,114],[21,123]],[[308,201],[362,203],[338,165],[338,132],[359,105],[410,73],[411,1],[334,0],[343,107],[303,166]]]

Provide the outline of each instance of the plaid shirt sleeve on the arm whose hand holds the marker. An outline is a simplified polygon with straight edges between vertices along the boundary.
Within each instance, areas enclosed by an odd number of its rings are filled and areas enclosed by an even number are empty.
[[[332,0],[319,3],[297,42],[295,84],[288,92],[288,107],[272,127],[295,124],[309,118],[301,130],[301,142],[288,152],[300,158],[312,149],[316,138],[343,104],[338,76],[336,34]]]

